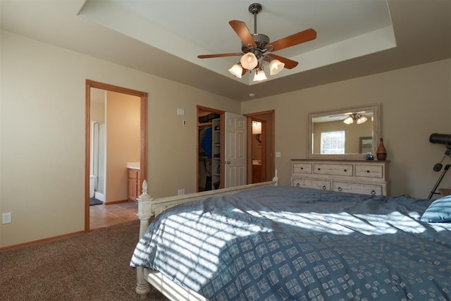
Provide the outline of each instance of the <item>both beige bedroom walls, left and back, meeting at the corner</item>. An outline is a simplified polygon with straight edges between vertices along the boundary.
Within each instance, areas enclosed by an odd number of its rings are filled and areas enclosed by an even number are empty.
[[[83,230],[86,79],[149,93],[152,197],[195,191],[197,104],[232,113],[274,109],[282,185],[290,183],[290,159],[306,157],[311,111],[382,104],[394,195],[427,197],[438,178],[433,164],[445,152],[428,137],[451,133],[450,60],[240,104],[9,32],[0,38],[0,212],[13,214],[13,223],[0,224],[0,247]]]

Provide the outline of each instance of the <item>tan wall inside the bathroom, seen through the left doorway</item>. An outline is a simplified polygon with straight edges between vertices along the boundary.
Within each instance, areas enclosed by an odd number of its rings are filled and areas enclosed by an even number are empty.
[[[140,97],[106,92],[105,202],[128,199],[128,162],[140,161]]]

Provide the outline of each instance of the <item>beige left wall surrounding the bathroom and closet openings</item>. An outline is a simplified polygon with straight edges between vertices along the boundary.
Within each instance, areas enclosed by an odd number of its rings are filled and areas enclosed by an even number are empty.
[[[233,99],[10,32],[0,39],[0,211],[13,217],[0,247],[84,230],[85,80],[149,93],[152,197],[195,191],[197,104],[240,113]]]

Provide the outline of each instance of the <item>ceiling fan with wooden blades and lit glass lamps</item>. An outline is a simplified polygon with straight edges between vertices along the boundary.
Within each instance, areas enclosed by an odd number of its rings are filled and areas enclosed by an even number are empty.
[[[267,35],[257,33],[257,14],[260,11],[261,4],[254,3],[249,6],[249,12],[254,15],[254,34],[249,32],[246,23],[239,20],[229,21],[230,26],[241,39],[242,52],[230,54],[204,54],[197,57],[199,59],[210,59],[226,56],[241,56],[240,63],[237,63],[230,68],[229,72],[237,78],[241,78],[247,71],[250,72],[251,70],[256,70],[254,81],[266,80],[266,75],[263,70],[264,62],[269,63],[271,75],[276,75],[284,67],[287,69],[295,68],[298,64],[297,61],[278,56],[272,52],[316,39],[316,31],[309,28],[297,32],[294,35],[284,37],[283,39],[270,42]]]

